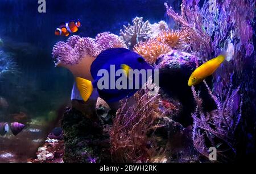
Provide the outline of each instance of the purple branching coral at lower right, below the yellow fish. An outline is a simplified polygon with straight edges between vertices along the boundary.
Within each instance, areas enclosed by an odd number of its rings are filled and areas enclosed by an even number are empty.
[[[196,110],[193,118],[193,144],[197,151],[208,158],[209,148],[217,149],[218,161],[228,161],[236,155],[235,131],[242,116],[242,96],[240,88],[232,90],[231,86],[225,101],[221,102],[211,92],[204,81],[210,97],[217,105],[217,109],[210,113],[205,112],[202,106],[200,92],[197,93],[192,86],[193,96],[196,100]],[[233,153],[232,153],[233,152]]]

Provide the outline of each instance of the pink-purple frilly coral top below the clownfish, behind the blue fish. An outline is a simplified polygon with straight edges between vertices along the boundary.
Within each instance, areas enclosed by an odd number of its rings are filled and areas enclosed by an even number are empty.
[[[95,39],[74,35],[67,42],[58,42],[53,47],[52,55],[57,62],[77,64],[86,54],[96,57],[101,51],[114,47],[126,48],[126,45],[117,35],[109,32],[98,34]]]

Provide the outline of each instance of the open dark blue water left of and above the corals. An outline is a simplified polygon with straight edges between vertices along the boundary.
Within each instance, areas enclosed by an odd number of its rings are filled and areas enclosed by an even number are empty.
[[[38,13],[37,0],[0,2],[0,56],[14,63],[13,72],[0,74],[0,97],[7,102],[6,107],[0,106],[0,121],[12,122],[13,114],[23,113],[31,121],[19,136],[0,137],[1,162],[27,161],[34,156],[69,103],[72,74],[55,68],[51,55],[53,45],[67,39],[54,35],[60,22],[80,19],[82,27],[77,35],[94,38],[105,31],[119,34],[135,16],[151,23],[166,19],[166,1],[162,0],[46,2],[46,13]],[[169,3],[180,5],[180,1]]]

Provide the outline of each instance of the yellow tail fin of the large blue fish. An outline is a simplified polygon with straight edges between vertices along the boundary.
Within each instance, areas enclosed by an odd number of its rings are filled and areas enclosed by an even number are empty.
[[[81,77],[76,77],[76,85],[79,89],[82,100],[86,102],[93,92],[92,82]]]

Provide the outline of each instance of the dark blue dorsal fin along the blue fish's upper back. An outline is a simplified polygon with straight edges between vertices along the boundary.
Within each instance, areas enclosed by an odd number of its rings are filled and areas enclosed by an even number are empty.
[[[102,51],[93,61],[92,65],[90,65],[92,77],[96,79],[98,71],[102,69],[108,61],[116,59],[119,55],[126,52],[130,52],[130,50],[126,48],[110,48]]]

